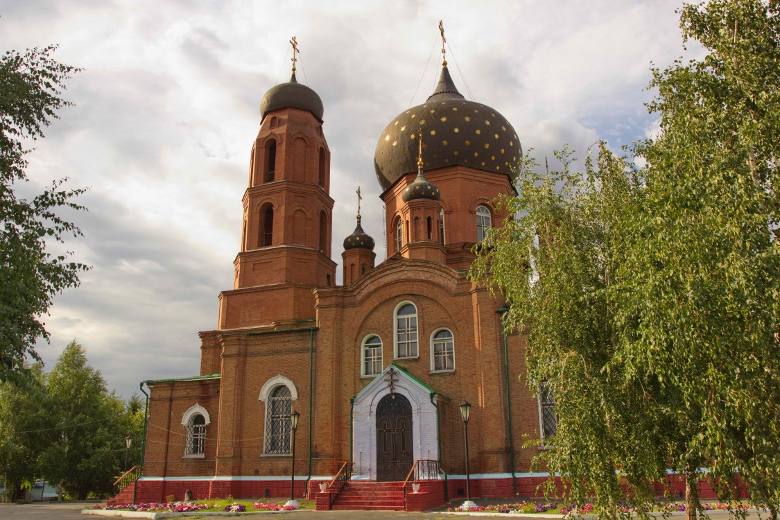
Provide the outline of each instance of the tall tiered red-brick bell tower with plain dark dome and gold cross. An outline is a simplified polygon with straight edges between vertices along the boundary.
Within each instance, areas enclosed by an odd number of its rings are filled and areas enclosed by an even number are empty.
[[[322,101],[293,75],[261,101],[243,196],[243,228],[231,291],[219,296],[219,329],[314,318],[312,289],[335,284],[333,199]]]

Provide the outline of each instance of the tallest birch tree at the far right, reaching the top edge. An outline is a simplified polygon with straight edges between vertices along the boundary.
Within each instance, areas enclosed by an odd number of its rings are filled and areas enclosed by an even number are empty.
[[[614,293],[619,363],[676,395],[675,469],[707,466],[722,493],[737,471],[777,515],[780,6],[686,5],[681,27],[708,53],[654,70],[661,133],[634,150],[647,187]]]

